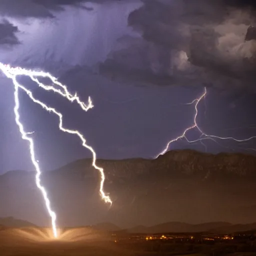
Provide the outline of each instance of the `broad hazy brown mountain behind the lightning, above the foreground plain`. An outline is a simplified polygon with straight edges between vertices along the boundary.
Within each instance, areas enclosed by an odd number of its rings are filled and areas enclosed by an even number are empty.
[[[146,226],[133,227],[142,230],[160,221],[180,222],[157,225],[157,231],[168,226],[189,230],[187,223],[255,221],[253,155],[172,150],[156,159],[98,159],[97,165],[104,169],[104,190],[112,198],[111,207],[99,196],[99,173],[91,166],[91,159],[42,172],[41,183],[57,213],[58,226],[86,226],[104,221],[118,226]],[[50,226],[34,175],[33,171],[0,175],[0,216],[15,214],[16,218]]]

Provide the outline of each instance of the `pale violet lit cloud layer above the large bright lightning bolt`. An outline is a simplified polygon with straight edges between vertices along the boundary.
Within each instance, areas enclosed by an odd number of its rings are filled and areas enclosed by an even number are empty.
[[[141,4],[140,0],[2,0],[0,18],[17,26],[20,45],[8,51],[1,46],[1,61],[33,68],[103,61],[116,39],[131,31],[127,16]]]

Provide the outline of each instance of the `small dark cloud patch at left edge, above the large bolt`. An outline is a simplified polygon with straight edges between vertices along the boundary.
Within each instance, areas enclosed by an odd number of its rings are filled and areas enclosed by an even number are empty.
[[[0,44],[18,44],[19,41],[15,35],[18,28],[13,26],[7,20],[0,22]]]

